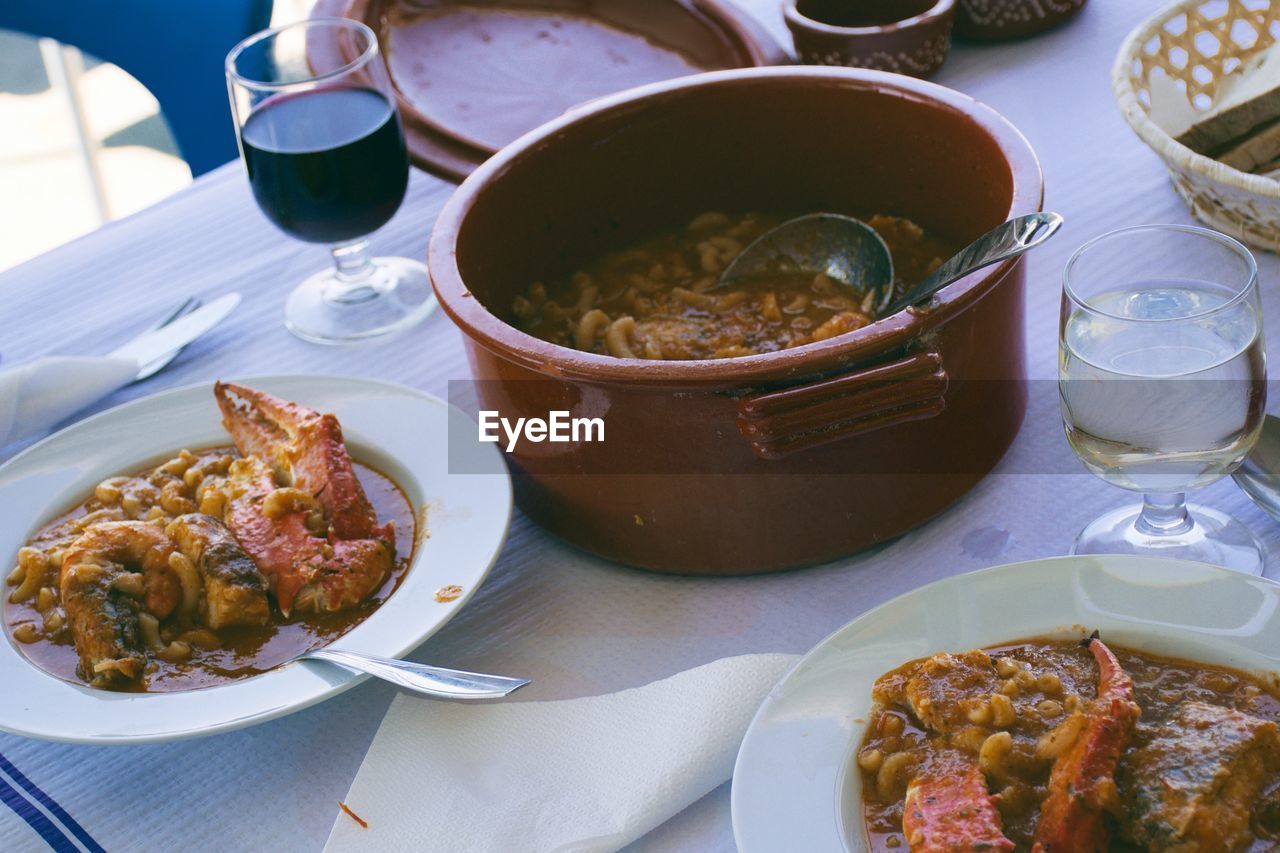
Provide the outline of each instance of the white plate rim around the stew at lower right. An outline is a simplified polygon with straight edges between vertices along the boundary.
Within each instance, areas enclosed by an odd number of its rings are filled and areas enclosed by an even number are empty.
[[[861,743],[877,676],[938,651],[1080,635],[1139,651],[1280,671],[1280,584],[1146,557],[1059,557],[947,578],[819,643],[760,706],[733,768],[742,853],[865,849]]]

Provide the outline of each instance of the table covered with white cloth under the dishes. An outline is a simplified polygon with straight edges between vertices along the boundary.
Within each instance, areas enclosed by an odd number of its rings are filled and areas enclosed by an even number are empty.
[[[525,675],[534,683],[520,698],[548,699],[635,686],[730,654],[804,652],[858,613],[937,578],[1064,553],[1087,521],[1121,503],[1117,489],[1069,457],[1064,464],[1053,384],[1057,306],[1062,265],[1087,238],[1126,224],[1189,222],[1110,92],[1125,33],[1161,5],[1098,0],[1070,26],[1030,41],[959,46],[937,78],[1028,136],[1044,168],[1046,206],[1068,220],[1030,261],[1032,410],[995,474],[943,516],[874,552],[760,578],[626,569],[561,544],[517,512],[489,580],[412,658]],[[786,37],[776,6],[750,1]],[[415,173],[403,209],[374,237],[375,251],[424,256],[451,188]],[[229,321],[100,407],[219,377],[352,374],[439,396],[449,379],[468,378],[460,336],[443,314],[394,343],[332,350],[289,336],[280,324],[284,295],[325,263],[321,250],[264,220],[241,165],[228,164],[155,207],[0,275],[0,350],[8,364],[54,351],[101,352],[187,295],[234,288],[246,298]],[[1267,255],[1260,264],[1266,311],[1280,316],[1280,263]],[[1272,355],[1277,341],[1272,332]],[[1199,498],[1235,514],[1272,552],[1280,544],[1280,526],[1230,482]],[[1268,571],[1277,571],[1275,561]],[[12,761],[0,763],[0,777],[17,768],[108,849],[316,850],[390,698],[389,688],[366,683],[253,729],[168,745],[72,747],[0,735],[0,753]],[[635,848],[732,850],[728,785]],[[0,809],[0,849],[44,848],[24,821]]]

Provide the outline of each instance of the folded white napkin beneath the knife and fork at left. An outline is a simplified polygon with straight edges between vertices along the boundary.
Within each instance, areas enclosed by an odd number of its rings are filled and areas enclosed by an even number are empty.
[[[0,371],[0,447],[37,435],[138,374],[129,359],[47,356]]]

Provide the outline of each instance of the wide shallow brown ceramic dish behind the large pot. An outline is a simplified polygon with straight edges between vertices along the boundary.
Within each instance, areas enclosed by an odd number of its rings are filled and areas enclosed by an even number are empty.
[[[722,0],[321,0],[317,9],[378,33],[410,155],[448,179],[603,95],[787,61]]]

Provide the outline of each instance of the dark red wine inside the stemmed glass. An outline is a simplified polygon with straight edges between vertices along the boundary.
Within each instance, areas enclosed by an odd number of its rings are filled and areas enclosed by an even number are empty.
[[[241,128],[241,142],[259,206],[298,240],[364,237],[404,199],[404,136],[375,91],[320,88],[265,101]]]

